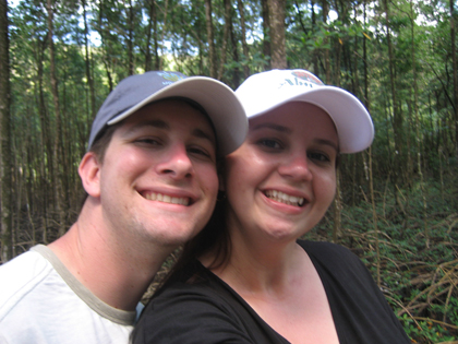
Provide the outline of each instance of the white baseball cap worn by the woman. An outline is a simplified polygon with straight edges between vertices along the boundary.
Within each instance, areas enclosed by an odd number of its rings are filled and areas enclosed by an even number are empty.
[[[351,93],[326,86],[305,70],[272,70],[251,75],[236,94],[249,118],[289,102],[321,107],[336,126],[340,153],[361,152],[374,140],[374,124],[364,105]]]

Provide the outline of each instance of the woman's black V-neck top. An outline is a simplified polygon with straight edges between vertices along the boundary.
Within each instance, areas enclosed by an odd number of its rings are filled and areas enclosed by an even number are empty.
[[[340,344],[410,343],[362,261],[348,249],[298,241],[323,282]],[[150,300],[133,343],[289,343],[222,280],[193,261]]]

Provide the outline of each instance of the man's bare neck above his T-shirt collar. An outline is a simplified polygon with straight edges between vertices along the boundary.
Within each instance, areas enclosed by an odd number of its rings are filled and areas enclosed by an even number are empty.
[[[142,252],[118,245],[104,228],[79,221],[49,248],[69,271],[104,303],[123,310],[134,310],[153,281],[167,250],[149,248]],[[86,223],[87,225],[87,223]]]

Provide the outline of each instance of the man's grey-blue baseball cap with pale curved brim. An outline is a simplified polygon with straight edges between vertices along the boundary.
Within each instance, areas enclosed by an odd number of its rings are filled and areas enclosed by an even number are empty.
[[[120,122],[152,102],[170,97],[188,98],[204,108],[215,128],[220,155],[236,151],[245,140],[246,115],[230,87],[207,76],[150,71],[125,78],[108,95],[93,122],[88,150],[105,126]]]

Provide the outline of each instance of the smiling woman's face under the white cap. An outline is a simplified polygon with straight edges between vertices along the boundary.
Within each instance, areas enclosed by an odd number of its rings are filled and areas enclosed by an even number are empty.
[[[337,155],[334,122],[312,104],[251,119],[245,142],[227,157],[229,229],[276,240],[309,232],[334,199]]]

